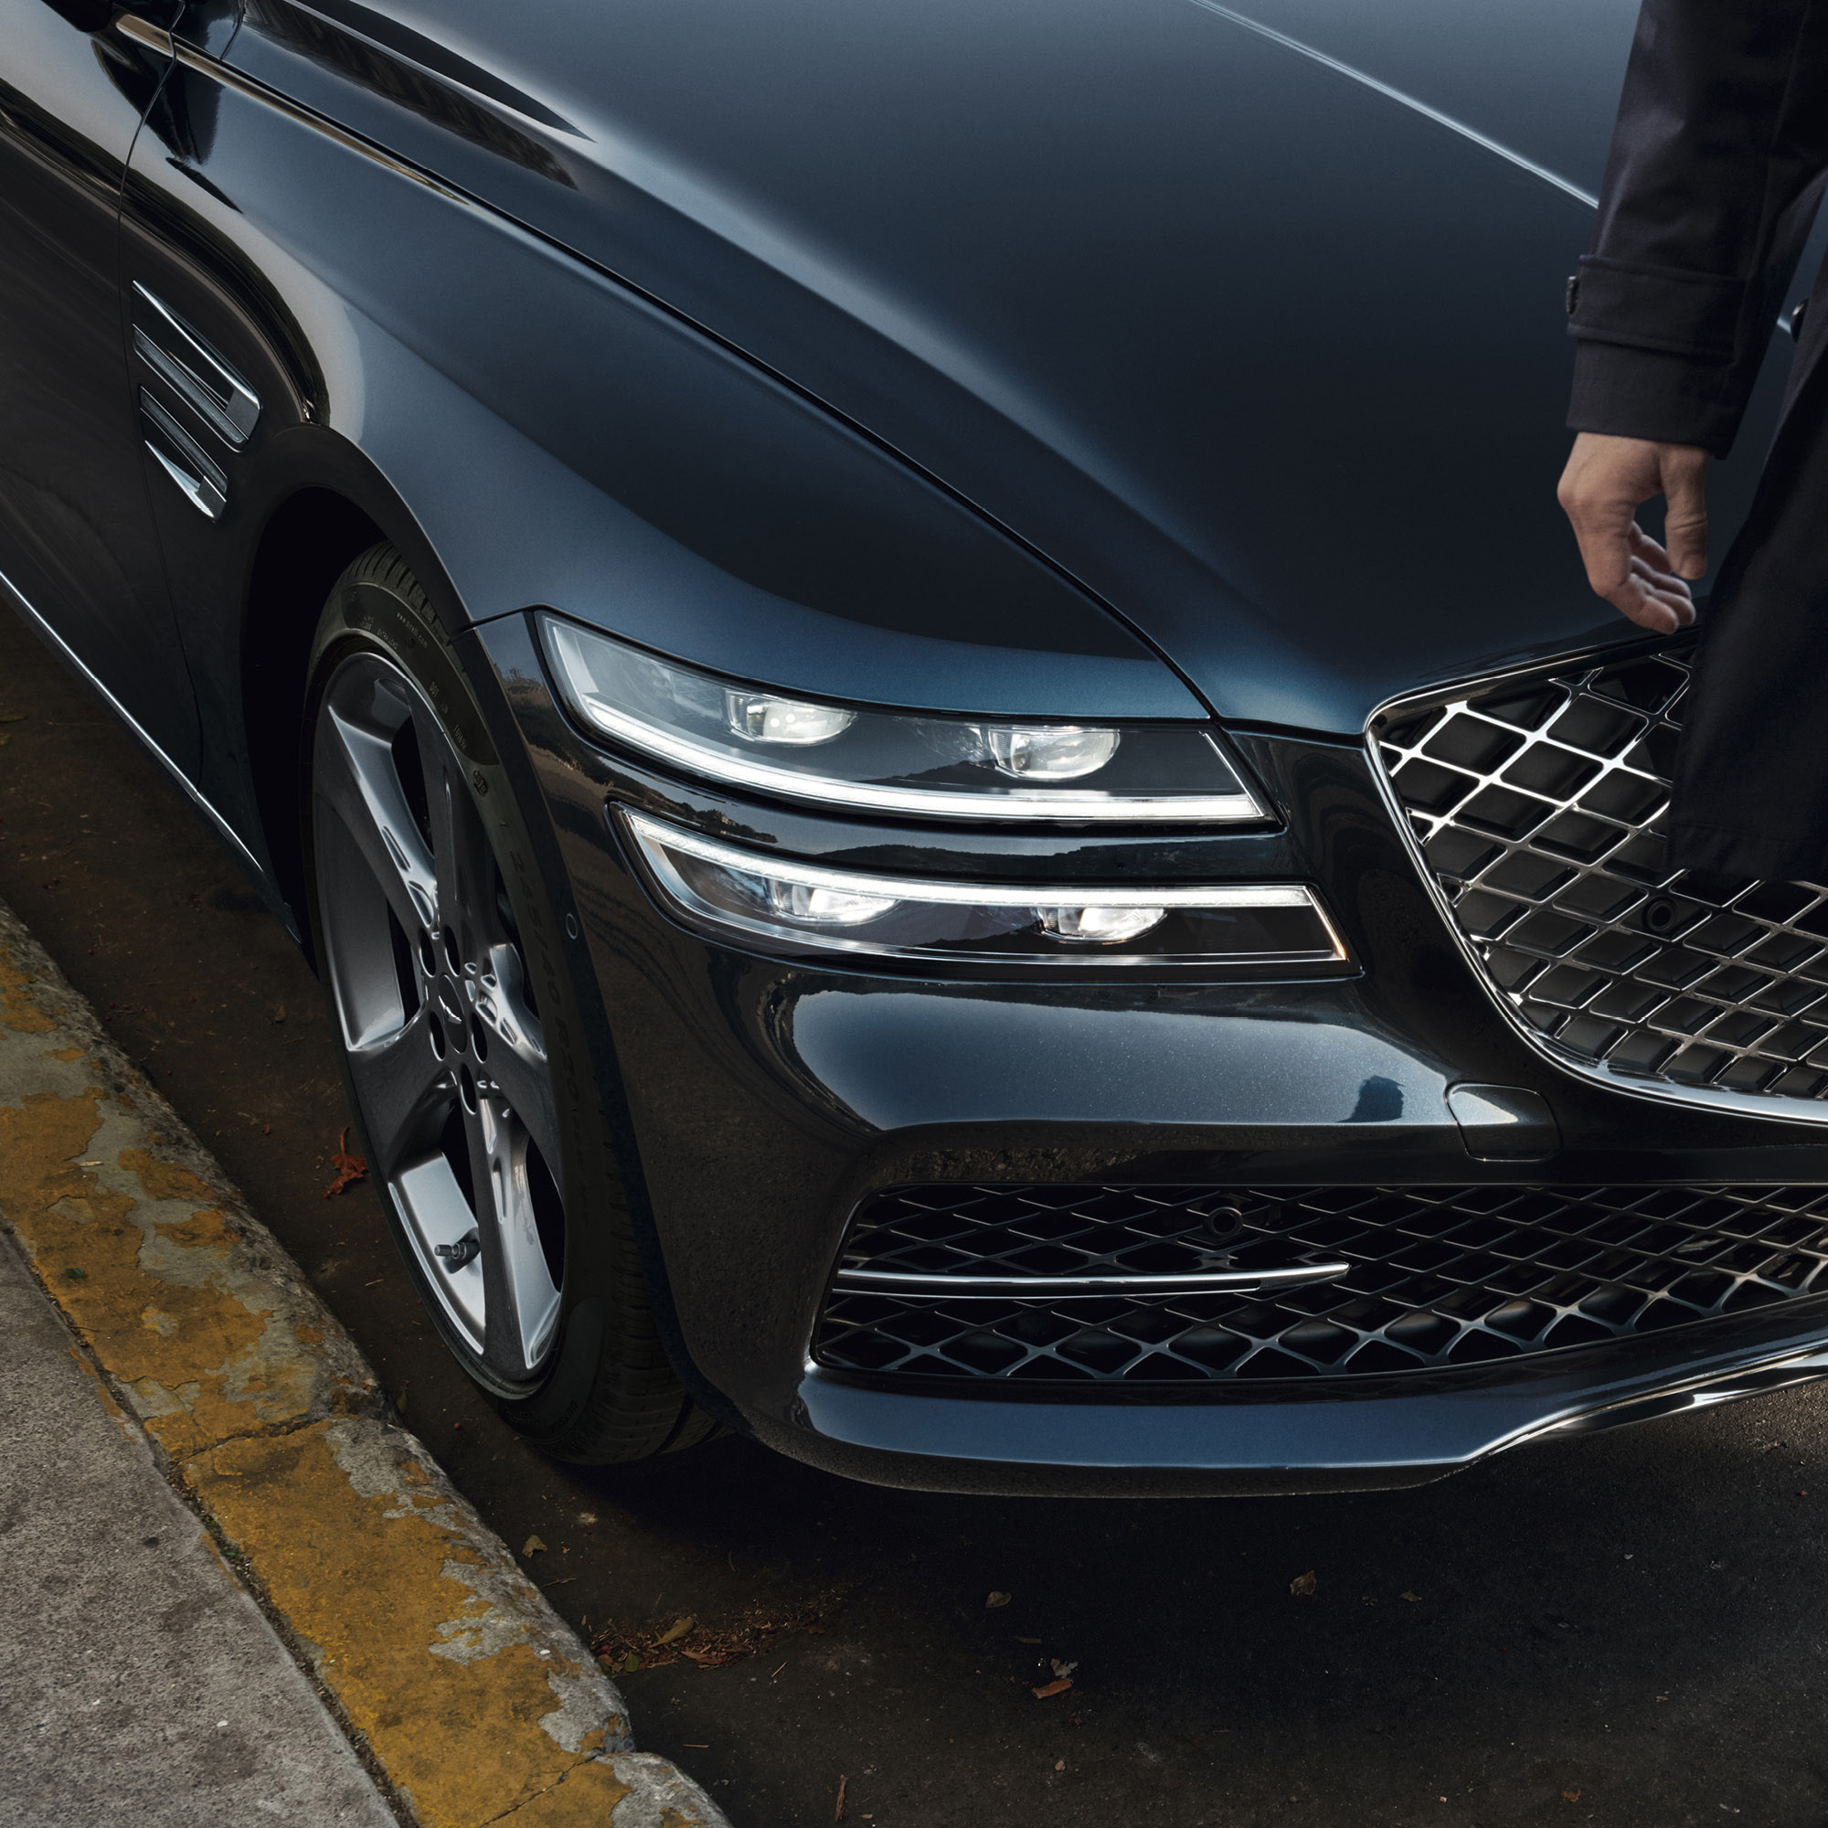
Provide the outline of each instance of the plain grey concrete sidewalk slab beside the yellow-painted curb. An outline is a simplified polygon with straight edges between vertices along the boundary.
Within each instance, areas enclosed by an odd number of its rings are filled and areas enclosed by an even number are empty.
[[[393,1812],[0,1238],[0,1823]]]

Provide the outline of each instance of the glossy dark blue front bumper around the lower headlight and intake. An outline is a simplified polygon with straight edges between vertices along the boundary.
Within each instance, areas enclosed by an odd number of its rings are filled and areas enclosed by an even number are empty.
[[[1276,834],[1091,846],[918,834],[717,795],[611,759],[556,707],[521,618],[477,631],[550,812],[601,994],[611,1124],[675,1362],[733,1426],[916,1488],[1313,1492],[1415,1484],[1543,1435],[1828,1373],[1828,1296],[1596,1345],[1395,1375],[907,1382],[812,1360],[859,1203],[919,1185],[1828,1186],[1819,1128],[1559,1071],[1501,1016],[1364,751],[1241,737]],[[631,870],[611,806],[757,846],[932,874],[1318,883],[1358,971],[1314,982],[932,982],[709,943]],[[1026,876],[1022,879],[1027,879]],[[1448,1091],[1552,1128],[1462,1130]]]

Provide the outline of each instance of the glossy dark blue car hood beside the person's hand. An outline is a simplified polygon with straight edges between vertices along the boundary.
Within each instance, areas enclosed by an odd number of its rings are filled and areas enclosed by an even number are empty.
[[[940,477],[1223,717],[1356,731],[1632,632],[1554,479],[1636,0],[316,11],[514,122],[448,175]]]

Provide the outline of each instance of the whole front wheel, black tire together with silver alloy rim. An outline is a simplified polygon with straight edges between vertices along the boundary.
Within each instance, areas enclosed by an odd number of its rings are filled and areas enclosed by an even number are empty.
[[[654,1327],[550,885],[475,689],[391,545],[336,581],[303,729],[311,936],[395,1243],[556,1459],[715,1431]]]

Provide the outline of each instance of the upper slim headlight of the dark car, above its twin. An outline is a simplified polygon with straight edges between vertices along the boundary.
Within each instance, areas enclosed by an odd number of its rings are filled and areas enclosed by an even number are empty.
[[[539,618],[572,713],[689,773],[760,793],[927,819],[1267,817],[1194,724],[907,717],[735,686]]]

